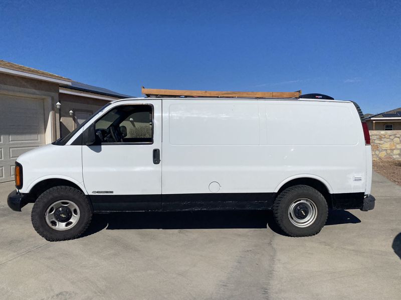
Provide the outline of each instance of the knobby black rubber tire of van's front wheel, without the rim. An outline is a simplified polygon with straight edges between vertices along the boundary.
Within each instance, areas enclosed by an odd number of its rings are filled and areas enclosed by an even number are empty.
[[[71,228],[56,230],[46,221],[46,211],[57,201],[68,200],[79,208],[79,218]],[[43,192],[34,203],[32,224],[42,237],[49,241],[68,240],[80,236],[89,226],[92,209],[85,194],[71,186],[55,186]]]

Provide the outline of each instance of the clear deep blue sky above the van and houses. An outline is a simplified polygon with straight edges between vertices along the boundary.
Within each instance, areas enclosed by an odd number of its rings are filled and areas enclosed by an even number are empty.
[[[321,92],[401,106],[401,2],[0,1],[0,59],[140,87]]]

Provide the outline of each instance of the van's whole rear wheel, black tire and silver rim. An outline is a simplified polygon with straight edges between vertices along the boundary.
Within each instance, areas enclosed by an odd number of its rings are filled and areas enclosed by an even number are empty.
[[[292,206],[292,204],[294,206]],[[298,204],[297,204],[298,203]],[[310,205],[309,209],[305,206]],[[292,207],[292,209],[290,209]],[[296,211],[297,210],[297,211]],[[303,210],[303,211],[300,211]],[[290,213],[291,211],[291,213]],[[310,217],[308,221],[301,219]],[[311,211],[316,211],[312,214]],[[303,215],[300,216],[302,212]],[[324,196],[308,185],[294,185],[283,190],[273,203],[273,215],[279,227],[290,236],[312,236],[323,228],[328,216],[327,201]],[[297,218],[294,215],[300,216]],[[314,215],[315,217],[312,217]],[[305,221],[305,223],[301,223]],[[294,224],[297,223],[298,225]]]

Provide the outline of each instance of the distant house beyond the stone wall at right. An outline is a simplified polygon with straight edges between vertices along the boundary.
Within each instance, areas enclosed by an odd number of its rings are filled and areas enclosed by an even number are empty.
[[[401,130],[401,107],[366,118],[369,130]]]

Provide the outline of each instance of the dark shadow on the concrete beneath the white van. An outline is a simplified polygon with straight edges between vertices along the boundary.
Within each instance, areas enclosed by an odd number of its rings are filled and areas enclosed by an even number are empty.
[[[329,212],[326,225],[359,223],[346,210]],[[179,212],[112,212],[94,214],[92,223],[83,236],[102,229],[227,229],[267,228],[286,235],[276,224],[270,210],[246,211],[179,211]]]

